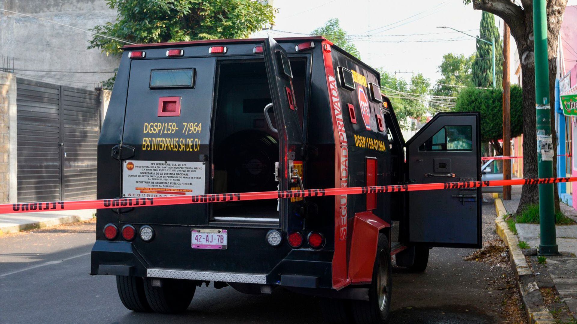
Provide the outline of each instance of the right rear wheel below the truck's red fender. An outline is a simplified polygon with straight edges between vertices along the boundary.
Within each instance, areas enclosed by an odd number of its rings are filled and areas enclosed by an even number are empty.
[[[357,324],[387,323],[391,307],[391,250],[387,236],[379,234],[373,279],[369,287],[369,301],[353,300],[353,317]]]

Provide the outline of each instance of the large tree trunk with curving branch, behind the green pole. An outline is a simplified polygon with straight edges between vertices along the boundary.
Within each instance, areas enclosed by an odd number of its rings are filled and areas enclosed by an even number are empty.
[[[517,3],[520,1],[520,5]],[[511,28],[515,39],[523,82],[523,175],[525,178],[537,178],[537,118],[535,116],[535,53],[533,43],[533,0],[463,0],[473,2],[473,9],[485,10],[501,17]],[[557,74],[557,43],[563,13],[567,0],[547,0],[547,36],[549,49],[549,97],[555,97],[555,77]],[[554,109],[550,110],[552,129],[554,129]],[[553,151],[557,154],[557,136],[552,132]],[[557,161],[553,159],[553,176],[557,176]],[[559,193],[555,190],[555,209],[559,209]],[[537,186],[523,186],[517,212],[522,212],[530,204],[539,200]]]

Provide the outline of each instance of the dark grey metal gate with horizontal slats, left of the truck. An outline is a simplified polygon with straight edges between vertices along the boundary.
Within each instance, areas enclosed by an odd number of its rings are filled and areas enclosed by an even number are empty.
[[[96,197],[97,91],[17,78],[18,202]]]

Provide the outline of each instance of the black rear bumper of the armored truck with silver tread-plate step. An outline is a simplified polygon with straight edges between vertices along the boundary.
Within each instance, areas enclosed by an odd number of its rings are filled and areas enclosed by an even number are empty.
[[[149,265],[130,242],[97,240],[92,248],[90,274],[332,288],[331,262],[332,251],[301,249],[291,251],[269,273],[159,268]]]

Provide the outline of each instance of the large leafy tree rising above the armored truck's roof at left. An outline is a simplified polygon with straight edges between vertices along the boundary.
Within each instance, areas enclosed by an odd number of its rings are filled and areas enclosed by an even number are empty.
[[[107,0],[107,5],[117,10],[116,21],[91,31],[133,43],[246,38],[272,23],[276,12],[252,0]],[[125,45],[99,35],[89,43],[88,48],[100,48],[106,55],[119,55]],[[114,80],[105,83],[110,86]]]

